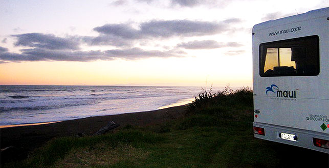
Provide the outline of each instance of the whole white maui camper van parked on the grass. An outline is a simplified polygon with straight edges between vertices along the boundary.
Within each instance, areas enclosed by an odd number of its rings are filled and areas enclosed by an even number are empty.
[[[329,8],[252,32],[254,136],[329,153]]]

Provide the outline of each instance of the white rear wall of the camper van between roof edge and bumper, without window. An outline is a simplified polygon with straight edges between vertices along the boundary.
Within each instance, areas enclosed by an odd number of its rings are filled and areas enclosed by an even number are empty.
[[[308,129],[323,132],[321,125],[329,124],[329,69],[328,69],[328,21],[326,17],[313,20],[278,25],[254,32],[253,35],[253,90],[254,108],[260,111],[255,122],[281,125],[298,129]],[[298,32],[269,36],[269,33],[301,27]],[[259,45],[261,43],[306,37],[319,36],[320,73],[317,76],[284,76],[260,77],[259,75]],[[281,92],[288,91],[294,98],[278,97],[277,94],[266,92],[267,87],[276,85]],[[287,92],[287,93],[288,93]],[[325,132],[329,133],[329,129]]]

